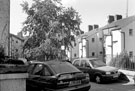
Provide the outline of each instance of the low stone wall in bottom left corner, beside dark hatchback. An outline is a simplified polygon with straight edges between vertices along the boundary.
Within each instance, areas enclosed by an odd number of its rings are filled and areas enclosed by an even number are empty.
[[[26,91],[27,73],[0,74],[0,91]]]

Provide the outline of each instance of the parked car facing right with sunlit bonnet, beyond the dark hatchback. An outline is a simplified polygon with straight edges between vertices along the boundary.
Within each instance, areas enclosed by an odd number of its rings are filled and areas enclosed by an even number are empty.
[[[90,79],[97,83],[118,79],[120,73],[115,67],[107,66],[97,58],[78,58],[72,64],[85,73],[89,73]]]

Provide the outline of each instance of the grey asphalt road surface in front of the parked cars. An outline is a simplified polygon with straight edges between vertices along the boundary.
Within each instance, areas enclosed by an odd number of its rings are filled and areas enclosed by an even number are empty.
[[[111,81],[103,84],[91,82],[89,91],[135,91],[135,85],[130,81]]]

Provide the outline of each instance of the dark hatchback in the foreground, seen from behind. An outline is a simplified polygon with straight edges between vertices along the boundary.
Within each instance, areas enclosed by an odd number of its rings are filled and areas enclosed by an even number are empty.
[[[27,91],[89,91],[89,75],[71,63],[31,62],[26,80]]]

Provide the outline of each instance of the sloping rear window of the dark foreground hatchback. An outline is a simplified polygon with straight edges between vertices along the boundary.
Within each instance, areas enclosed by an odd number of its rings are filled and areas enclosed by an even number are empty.
[[[79,69],[77,69],[75,66],[68,62],[61,62],[57,64],[51,64],[51,68],[58,73],[72,73],[72,72],[80,72]]]

